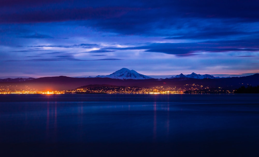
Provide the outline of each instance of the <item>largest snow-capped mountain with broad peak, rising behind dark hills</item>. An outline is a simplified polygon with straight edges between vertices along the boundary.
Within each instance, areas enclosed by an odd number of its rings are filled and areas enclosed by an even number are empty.
[[[110,75],[98,75],[96,77],[108,77],[108,78],[115,78],[115,79],[135,79],[135,80],[140,80],[140,79],[149,79],[152,77],[142,75],[137,73],[135,70],[129,70],[127,68],[122,68]]]

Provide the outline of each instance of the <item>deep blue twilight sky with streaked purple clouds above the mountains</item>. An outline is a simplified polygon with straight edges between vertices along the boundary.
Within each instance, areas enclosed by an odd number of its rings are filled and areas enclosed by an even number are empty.
[[[0,77],[259,73],[258,8],[258,0],[0,0]]]

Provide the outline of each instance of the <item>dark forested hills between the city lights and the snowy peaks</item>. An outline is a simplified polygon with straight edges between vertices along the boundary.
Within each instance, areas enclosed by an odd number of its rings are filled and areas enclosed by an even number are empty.
[[[210,88],[225,88],[225,90],[235,90],[241,86],[257,86],[259,74],[243,77],[218,78],[218,79],[196,79],[196,78],[168,78],[168,79],[113,79],[113,78],[75,78],[66,76],[40,77],[19,82],[0,82],[1,89],[10,90],[40,90],[40,91],[61,91],[76,89],[85,85],[107,84],[124,87],[173,87],[184,88],[186,84],[203,85]],[[5,90],[3,90],[5,91]]]

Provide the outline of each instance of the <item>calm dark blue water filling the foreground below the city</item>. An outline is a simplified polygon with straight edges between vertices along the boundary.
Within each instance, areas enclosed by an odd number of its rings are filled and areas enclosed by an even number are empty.
[[[0,149],[32,156],[258,156],[259,95],[0,95]]]

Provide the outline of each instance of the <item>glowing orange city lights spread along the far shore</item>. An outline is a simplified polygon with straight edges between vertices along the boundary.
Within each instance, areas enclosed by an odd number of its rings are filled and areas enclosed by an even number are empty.
[[[197,84],[186,84],[182,88],[177,87],[152,87],[152,88],[140,88],[140,87],[123,87],[112,85],[88,85],[73,90],[63,91],[41,91],[38,89],[0,89],[0,94],[75,94],[75,93],[106,93],[106,94],[183,94],[188,93],[234,93],[235,90],[225,90],[221,87],[210,88]]]

